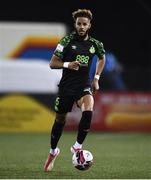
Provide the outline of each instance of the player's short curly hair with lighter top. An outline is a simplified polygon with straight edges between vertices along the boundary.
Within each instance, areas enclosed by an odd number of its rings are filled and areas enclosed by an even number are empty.
[[[73,17],[74,21],[76,21],[76,19],[78,17],[87,17],[91,21],[92,20],[92,12],[89,9],[78,9],[77,11],[74,11],[72,13],[72,17]]]

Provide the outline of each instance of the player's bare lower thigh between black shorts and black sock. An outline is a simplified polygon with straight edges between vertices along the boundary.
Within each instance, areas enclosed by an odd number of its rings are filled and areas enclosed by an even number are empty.
[[[93,111],[94,99],[90,94],[84,95],[78,100],[78,105],[81,111]]]

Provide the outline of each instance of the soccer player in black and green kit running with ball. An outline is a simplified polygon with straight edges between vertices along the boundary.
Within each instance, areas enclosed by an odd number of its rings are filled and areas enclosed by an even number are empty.
[[[87,9],[78,9],[72,13],[75,32],[63,37],[50,61],[51,69],[63,69],[59,83],[58,97],[55,101],[56,118],[51,130],[51,147],[44,165],[44,171],[51,171],[60,150],[57,147],[67,113],[74,102],[81,109],[82,117],[78,126],[77,139],[71,146],[71,152],[82,149],[82,144],[90,129],[94,99],[92,91],[99,89],[98,80],[105,64],[105,50],[102,42],[89,36],[92,13]],[[96,73],[90,82],[89,70],[93,57],[98,56]]]

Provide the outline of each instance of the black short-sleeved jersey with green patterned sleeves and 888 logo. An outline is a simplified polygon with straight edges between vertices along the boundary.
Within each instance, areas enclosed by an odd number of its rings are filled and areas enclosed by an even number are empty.
[[[81,40],[76,34],[70,34],[63,37],[58,43],[54,52],[63,62],[79,61],[79,70],[70,70],[63,68],[62,78],[59,87],[68,90],[81,90],[90,86],[89,70],[92,59],[95,55],[102,59],[105,50],[102,42],[89,37],[87,40]]]

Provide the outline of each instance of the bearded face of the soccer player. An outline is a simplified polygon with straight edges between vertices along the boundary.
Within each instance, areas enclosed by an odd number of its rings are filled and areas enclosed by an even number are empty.
[[[87,17],[78,17],[75,22],[75,28],[79,36],[84,36],[91,27],[90,20]]]

